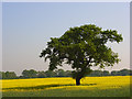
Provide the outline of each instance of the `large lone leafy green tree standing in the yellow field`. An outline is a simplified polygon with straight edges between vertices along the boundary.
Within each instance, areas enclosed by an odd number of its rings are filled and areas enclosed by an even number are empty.
[[[61,37],[51,37],[40,57],[50,59],[51,70],[62,66],[63,62],[72,65],[72,76],[76,85],[80,85],[80,79],[91,73],[91,66],[105,68],[119,63],[118,54],[106,44],[122,40],[116,30],[102,31],[101,28],[86,24],[70,28]]]

